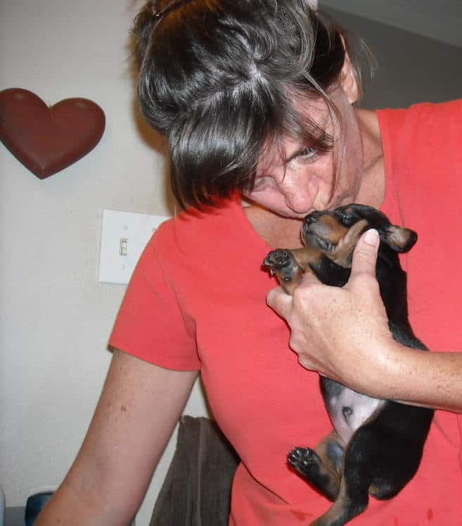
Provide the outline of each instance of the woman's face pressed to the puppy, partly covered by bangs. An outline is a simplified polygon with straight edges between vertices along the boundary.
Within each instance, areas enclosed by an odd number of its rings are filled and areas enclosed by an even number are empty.
[[[317,152],[300,146],[293,139],[283,139],[280,149],[262,156],[255,188],[245,193],[246,198],[283,217],[300,219],[314,210],[355,201],[363,176],[359,126],[342,87],[332,91],[331,99],[342,119],[336,127],[321,99],[307,102],[301,110],[333,136],[333,148],[326,153]],[[334,159],[337,174],[333,191]]]

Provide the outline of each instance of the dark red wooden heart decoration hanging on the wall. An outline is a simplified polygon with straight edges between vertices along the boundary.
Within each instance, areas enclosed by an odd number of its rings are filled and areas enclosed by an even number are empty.
[[[103,110],[87,98],[66,98],[49,108],[27,89],[0,91],[0,140],[39,179],[93,150],[104,127]]]

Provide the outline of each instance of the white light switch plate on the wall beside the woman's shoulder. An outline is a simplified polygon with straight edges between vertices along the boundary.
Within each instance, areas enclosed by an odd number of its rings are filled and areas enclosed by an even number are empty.
[[[98,281],[127,285],[141,252],[166,216],[103,210]]]

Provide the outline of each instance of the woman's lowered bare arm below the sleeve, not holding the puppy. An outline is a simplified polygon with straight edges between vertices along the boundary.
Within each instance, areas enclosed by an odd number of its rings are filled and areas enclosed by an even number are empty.
[[[116,351],[82,448],[36,525],[126,526],[196,376]]]

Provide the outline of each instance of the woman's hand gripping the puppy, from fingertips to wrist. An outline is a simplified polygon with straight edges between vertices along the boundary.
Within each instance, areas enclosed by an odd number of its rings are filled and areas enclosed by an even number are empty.
[[[363,234],[342,287],[304,275],[293,296],[271,290],[267,302],[290,326],[300,364],[366,394],[380,393],[380,376],[395,349],[376,281],[378,233]]]

